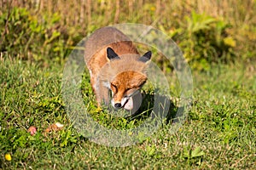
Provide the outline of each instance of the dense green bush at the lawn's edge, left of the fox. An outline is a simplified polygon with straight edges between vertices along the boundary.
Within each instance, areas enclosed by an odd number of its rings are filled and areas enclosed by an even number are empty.
[[[26,8],[12,8],[0,16],[0,32],[3,37],[1,53],[11,57],[34,61],[61,62],[68,53],[69,35],[58,28],[60,16],[33,15]]]

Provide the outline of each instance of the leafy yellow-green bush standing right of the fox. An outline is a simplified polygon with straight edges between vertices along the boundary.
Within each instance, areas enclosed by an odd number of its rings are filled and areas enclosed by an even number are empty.
[[[236,40],[227,34],[230,25],[224,20],[192,12],[186,17],[186,26],[180,46],[195,69],[208,70],[211,63],[235,57]]]

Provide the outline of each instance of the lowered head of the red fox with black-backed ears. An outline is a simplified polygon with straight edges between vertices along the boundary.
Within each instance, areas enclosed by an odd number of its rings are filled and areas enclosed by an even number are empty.
[[[116,109],[130,110],[127,104],[147,82],[146,70],[151,58],[151,51],[143,56],[138,54],[119,56],[113,51],[113,48],[107,48],[107,57],[109,62],[104,69],[105,78],[103,79],[105,79],[105,87],[112,92],[111,104]]]

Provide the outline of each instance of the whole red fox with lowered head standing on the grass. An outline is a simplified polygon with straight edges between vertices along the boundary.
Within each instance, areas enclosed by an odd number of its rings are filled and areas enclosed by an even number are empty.
[[[85,42],[84,60],[98,106],[111,100],[114,108],[131,110],[132,96],[148,79],[150,58],[151,51],[140,56],[131,40],[116,28],[95,31]]]

